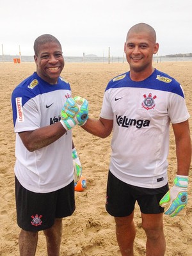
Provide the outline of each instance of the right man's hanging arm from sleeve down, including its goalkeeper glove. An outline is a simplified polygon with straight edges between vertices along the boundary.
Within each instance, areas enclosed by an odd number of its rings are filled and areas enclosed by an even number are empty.
[[[161,198],[159,205],[166,207],[164,214],[177,216],[188,204],[188,175],[191,164],[191,138],[188,120],[173,124],[175,134],[177,175],[173,179],[173,186]]]

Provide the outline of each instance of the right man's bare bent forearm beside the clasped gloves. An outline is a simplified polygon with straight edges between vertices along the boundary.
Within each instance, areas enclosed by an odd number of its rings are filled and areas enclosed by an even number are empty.
[[[113,120],[99,118],[99,120],[88,118],[86,124],[81,126],[85,131],[98,136],[100,138],[106,138],[111,134],[113,129]]]

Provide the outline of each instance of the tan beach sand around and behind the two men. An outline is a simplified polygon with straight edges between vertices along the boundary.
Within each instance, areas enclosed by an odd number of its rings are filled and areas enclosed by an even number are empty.
[[[184,89],[189,113],[192,114],[192,62],[154,63],[154,67],[175,77]],[[14,174],[15,134],[13,132],[12,90],[35,71],[35,63],[0,63],[1,130],[0,130],[0,255],[18,256],[18,236],[15,214]],[[129,70],[127,63],[65,63],[61,73],[72,87],[72,96],[81,95],[89,101],[90,117],[98,118],[108,81]],[[192,126],[191,119],[189,120]],[[192,128],[192,127],[191,127]],[[191,129],[192,130],[192,129]],[[120,256],[115,237],[115,222],[105,209],[106,182],[111,154],[111,136],[106,139],[88,134],[81,127],[73,129],[73,138],[83,166],[87,188],[76,192],[76,211],[63,219],[61,256]],[[170,185],[175,176],[175,141],[170,131],[168,176]],[[189,202],[179,216],[164,216],[166,256],[192,256],[192,199],[189,183]],[[145,255],[145,234],[141,214],[135,209],[135,256]],[[37,256],[47,255],[45,237],[39,233]]]

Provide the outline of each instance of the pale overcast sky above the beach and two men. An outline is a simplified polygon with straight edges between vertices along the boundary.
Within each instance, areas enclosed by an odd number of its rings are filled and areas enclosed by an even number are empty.
[[[64,56],[123,56],[127,31],[150,24],[159,56],[192,52],[191,0],[0,0],[0,55],[33,56],[49,33]]]

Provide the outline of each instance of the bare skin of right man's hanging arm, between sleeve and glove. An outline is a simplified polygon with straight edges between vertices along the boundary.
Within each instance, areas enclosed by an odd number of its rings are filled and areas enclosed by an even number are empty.
[[[188,120],[179,124],[173,124],[175,134],[177,175],[189,175],[191,164],[191,138]]]

